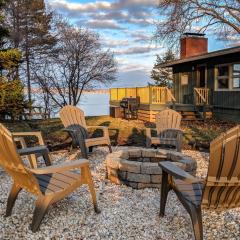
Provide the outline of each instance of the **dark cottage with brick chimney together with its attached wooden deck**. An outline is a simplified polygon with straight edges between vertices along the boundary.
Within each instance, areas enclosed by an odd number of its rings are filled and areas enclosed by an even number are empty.
[[[157,66],[172,68],[173,89],[113,88],[111,116],[123,116],[123,98],[139,97],[137,118],[143,121],[155,122],[155,115],[166,107],[181,113],[183,121],[212,116],[240,121],[240,46],[208,52],[208,39],[196,33],[185,33],[180,45],[179,60]]]

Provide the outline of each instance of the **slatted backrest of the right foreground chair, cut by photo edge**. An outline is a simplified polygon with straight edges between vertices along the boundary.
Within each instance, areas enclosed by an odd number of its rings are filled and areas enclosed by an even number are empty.
[[[240,207],[240,125],[210,144],[202,204],[209,208]]]

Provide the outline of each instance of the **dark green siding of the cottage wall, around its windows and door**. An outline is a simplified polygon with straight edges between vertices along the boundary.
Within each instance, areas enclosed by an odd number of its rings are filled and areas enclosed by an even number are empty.
[[[214,91],[215,66],[235,62],[240,63],[240,53],[175,65],[173,67],[174,95],[177,102],[193,104],[193,89],[197,86],[196,68],[198,65],[206,64],[207,87],[210,89],[210,104],[214,107],[214,115],[226,120],[240,121],[240,91]],[[186,86],[181,85],[182,74],[188,74],[188,85]]]

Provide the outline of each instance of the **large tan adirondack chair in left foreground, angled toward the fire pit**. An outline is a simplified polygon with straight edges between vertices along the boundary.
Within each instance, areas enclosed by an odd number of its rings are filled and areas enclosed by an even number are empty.
[[[37,197],[31,225],[33,232],[38,230],[50,205],[69,195],[82,184],[88,184],[95,212],[99,212],[87,159],[38,169],[27,168],[17,153],[12,134],[0,124],[0,165],[13,179],[6,216],[11,215],[15,200],[22,189]],[[80,173],[73,172],[73,169],[80,169]]]

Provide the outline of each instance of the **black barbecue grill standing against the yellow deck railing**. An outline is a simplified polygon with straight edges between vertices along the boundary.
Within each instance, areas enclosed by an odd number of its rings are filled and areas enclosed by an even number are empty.
[[[121,108],[124,110],[125,119],[137,119],[137,112],[140,104],[140,97],[123,98],[120,102]]]

